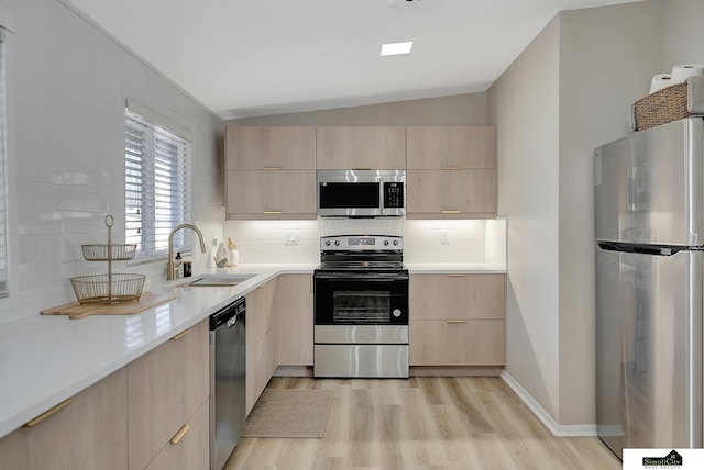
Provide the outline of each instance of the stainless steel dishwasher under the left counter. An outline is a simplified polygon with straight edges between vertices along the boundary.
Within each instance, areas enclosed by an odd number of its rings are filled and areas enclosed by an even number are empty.
[[[210,469],[221,470],[238,443],[245,414],[244,298],[210,315]]]

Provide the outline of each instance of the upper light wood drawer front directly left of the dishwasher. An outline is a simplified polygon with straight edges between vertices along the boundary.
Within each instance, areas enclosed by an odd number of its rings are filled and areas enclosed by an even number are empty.
[[[210,395],[208,332],[206,320],[128,365],[131,469],[145,468]]]

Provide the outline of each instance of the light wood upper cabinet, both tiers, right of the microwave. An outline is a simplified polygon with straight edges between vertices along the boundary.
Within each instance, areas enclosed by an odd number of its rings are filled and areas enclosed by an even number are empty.
[[[494,126],[407,127],[407,219],[496,216]]]

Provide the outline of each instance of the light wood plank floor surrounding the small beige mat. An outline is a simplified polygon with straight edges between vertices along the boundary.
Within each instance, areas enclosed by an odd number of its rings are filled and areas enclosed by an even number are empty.
[[[240,469],[620,469],[596,437],[554,437],[496,377],[274,378],[270,388],[334,390],[322,439],[238,443]]]

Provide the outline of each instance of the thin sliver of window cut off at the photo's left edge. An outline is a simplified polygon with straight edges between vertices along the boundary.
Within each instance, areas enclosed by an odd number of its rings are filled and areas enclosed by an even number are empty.
[[[8,277],[8,125],[6,115],[4,30],[0,29],[0,298],[9,296]]]

